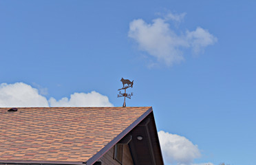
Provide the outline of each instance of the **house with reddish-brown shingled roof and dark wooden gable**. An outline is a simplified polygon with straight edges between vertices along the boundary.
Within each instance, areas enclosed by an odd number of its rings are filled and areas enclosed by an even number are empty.
[[[0,164],[164,164],[152,107],[0,108]]]

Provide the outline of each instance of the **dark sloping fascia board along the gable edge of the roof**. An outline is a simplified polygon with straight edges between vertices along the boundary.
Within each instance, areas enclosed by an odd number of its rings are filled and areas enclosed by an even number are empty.
[[[122,137],[125,137],[125,135],[127,135],[127,133],[129,133],[129,131],[134,129],[135,126],[137,126],[143,119],[145,119],[147,117],[147,115],[149,115],[149,113],[151,113],[152,111],[153,111],[153,109],[152,109],[152,107],[150,107],[143,115],[140,116],[140,118],[138,118],[135,122],[133,122],[131,125],[129,125],[124,131],[122,131],[122,133],[117,135],[114,138],[114,140],[109,142],[109,144],[107,144],[104,148],[102,148],[100,151],[98,151],[98,153],[96,153],[93,157],[88,159],[86,164],[87,165],[94,164],[98,159],[100,159],[100,157],[102,157],[105,153],[107,153],[107,151],[109,151],[110,148],[112,148],[117,142],[119,142],[122,139]]]

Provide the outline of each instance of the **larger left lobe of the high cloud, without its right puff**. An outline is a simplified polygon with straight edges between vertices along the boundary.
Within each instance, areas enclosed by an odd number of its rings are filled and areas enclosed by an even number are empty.
[[[140,50],[148,52],[158,61],[167,65],[183,60],[179,46],[189,46],[184,39],[177,36],[163,19],[153,20],[147,24],[142,19],[130,23],[129,37],[138,42]]]

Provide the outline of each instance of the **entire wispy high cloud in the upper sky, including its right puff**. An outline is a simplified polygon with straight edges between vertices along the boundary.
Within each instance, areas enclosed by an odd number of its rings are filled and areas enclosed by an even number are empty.
[[[198,54],[217,41],[215,36],[200,27],[195,31],[187,30],[180,35],[176,34],[167,21],[180,23],[184,16],[185,13],[169,13],[165,19],[153,19],[152,23],[135,19],[129,25],[128,36],[138,43],[140,50],[157,58],[158,62],[166,65],[178,63],[184,60],[182,49],[190,47],[194,53]]]

